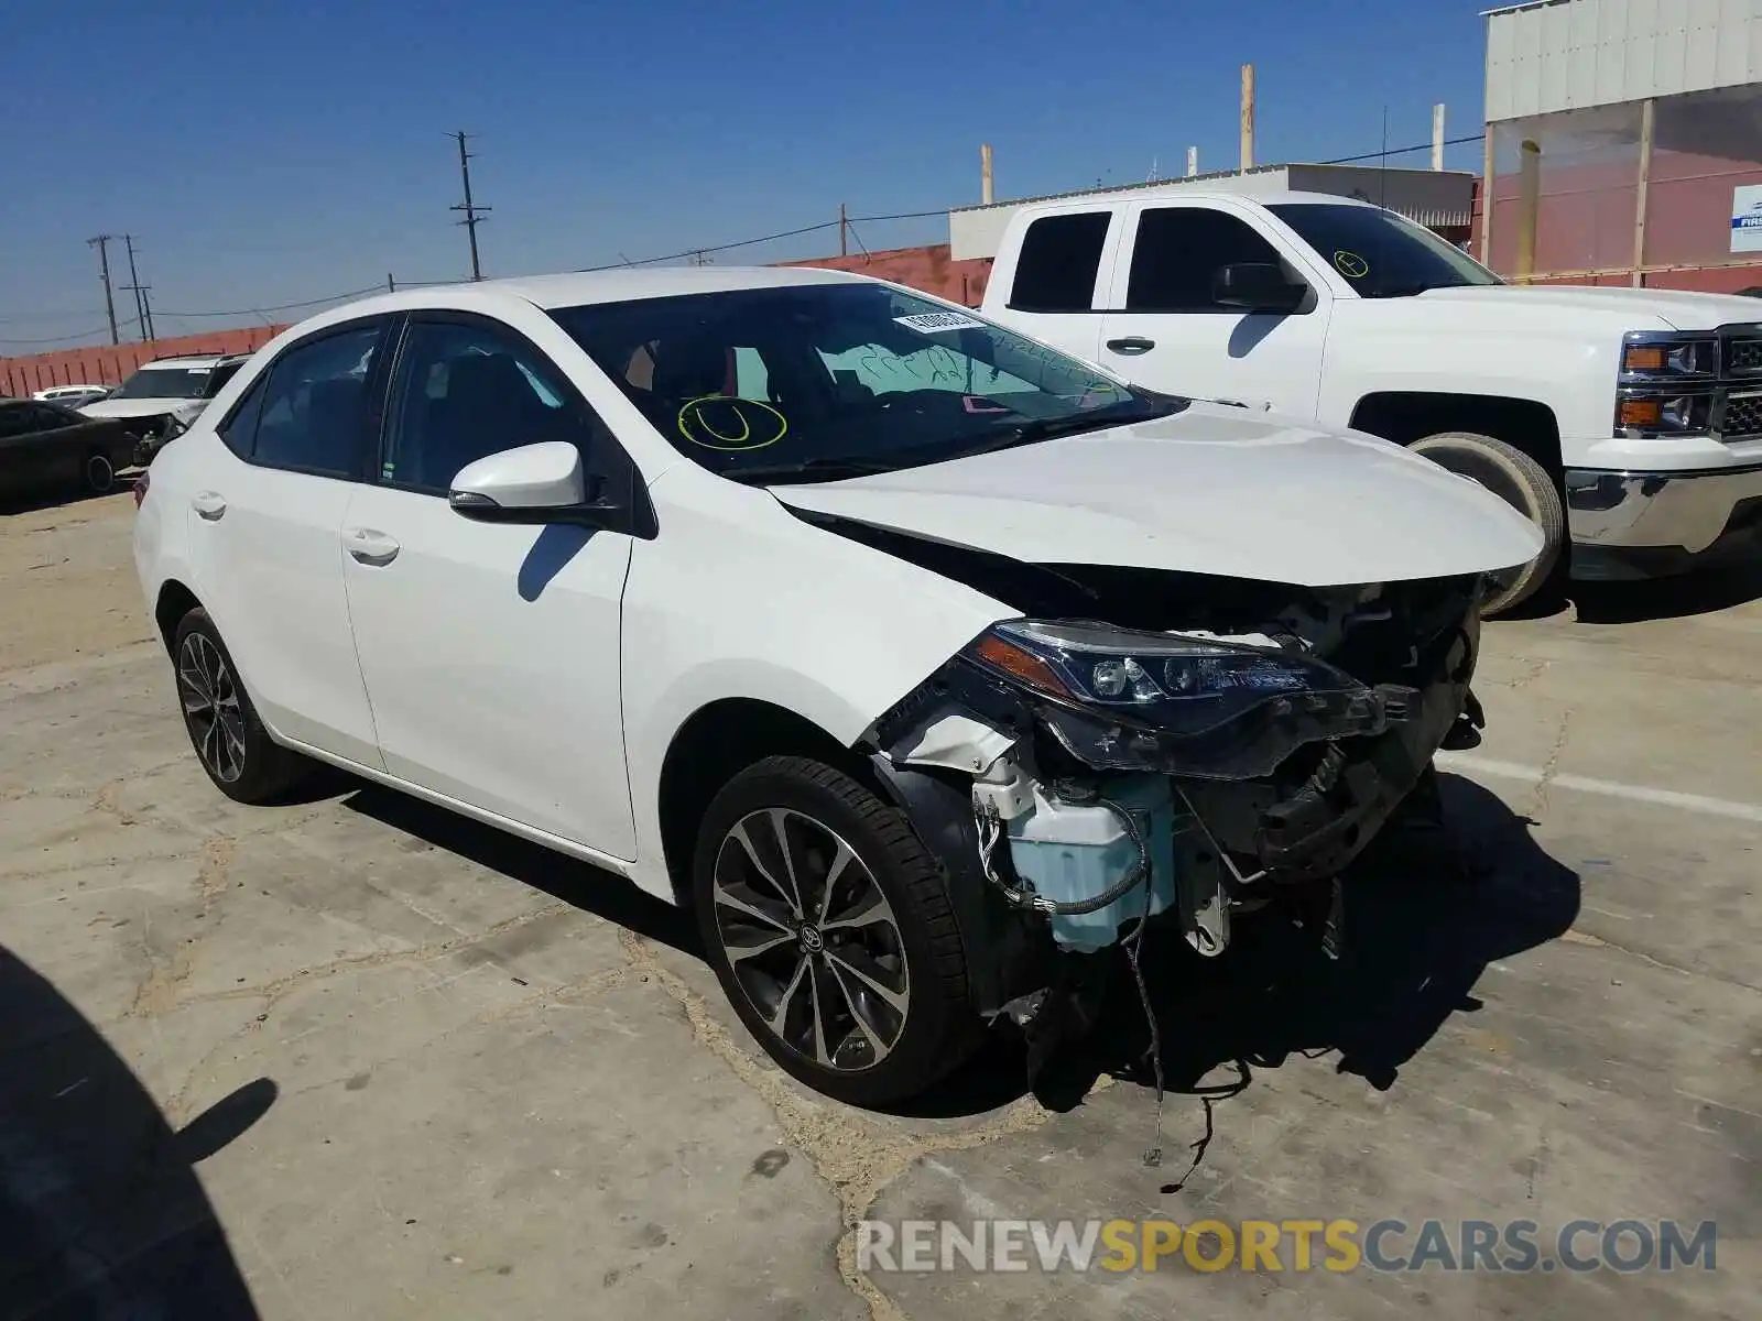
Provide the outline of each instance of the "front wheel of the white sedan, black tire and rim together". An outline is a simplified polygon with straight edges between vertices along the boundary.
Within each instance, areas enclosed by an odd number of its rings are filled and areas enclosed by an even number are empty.
[[[803,757],[740,771],[703,817],[692,881],[729,1004],[814,1090],[881,1106],[978,1044],[943,872],[849,775]]]

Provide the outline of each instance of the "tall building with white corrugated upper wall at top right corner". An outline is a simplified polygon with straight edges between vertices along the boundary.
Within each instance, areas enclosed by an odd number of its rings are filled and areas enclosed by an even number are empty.
[[[1762,0],[1491,11],[1484,196],[1517,278],[1762,284]]]

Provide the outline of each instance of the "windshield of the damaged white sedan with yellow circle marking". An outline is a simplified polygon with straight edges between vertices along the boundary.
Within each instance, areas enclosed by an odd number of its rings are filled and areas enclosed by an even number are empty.
[[[682,454],[737,481],[885,472],[1186,407],[879,284],[552,315]]]

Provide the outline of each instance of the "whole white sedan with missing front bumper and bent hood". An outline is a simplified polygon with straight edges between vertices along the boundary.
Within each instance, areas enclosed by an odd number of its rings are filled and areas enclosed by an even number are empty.
[[[1381,440],[786,269],[326,312],[137,498],[224,793],[315,757],[691,905],[856,1103],[1145,919],[1216,955],[1327,889],[1478,724],[1477,602],[1542,546]]]

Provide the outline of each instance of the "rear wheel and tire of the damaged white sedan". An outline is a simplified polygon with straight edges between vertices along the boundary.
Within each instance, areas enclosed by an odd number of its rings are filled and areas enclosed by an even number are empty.
[[[270,738],[220,631],[201,606],[178,622],[171,664],[183,727],[220,793],[238,803],[273,803],[305,777],[310,763]]]

